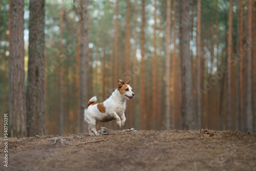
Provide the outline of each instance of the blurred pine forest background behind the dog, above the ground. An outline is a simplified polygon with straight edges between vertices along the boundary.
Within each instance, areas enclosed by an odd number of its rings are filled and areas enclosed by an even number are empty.
[[[11,136],[86,132],[88,100],[108,98],[118,79],[136,94],[124,129],[255,132],[255,1],[17,2],[0,4],[0,126],[8,113]],[[15,3],[24,15],[11,17]],[[18,31],[24,46],[11,37]]]

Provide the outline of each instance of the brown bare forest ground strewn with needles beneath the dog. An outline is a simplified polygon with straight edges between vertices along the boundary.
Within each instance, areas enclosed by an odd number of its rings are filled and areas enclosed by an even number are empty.
[[[9,139],[8,168],[4,154],[2,138],[0,170],[256,170],[256,134],[173,130],[36,136]]]

